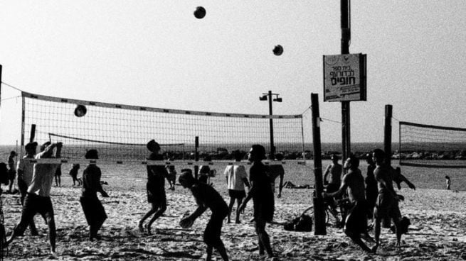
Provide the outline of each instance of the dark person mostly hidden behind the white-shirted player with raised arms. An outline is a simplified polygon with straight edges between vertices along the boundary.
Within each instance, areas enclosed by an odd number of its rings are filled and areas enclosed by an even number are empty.
[[[28,187],[31,185],[34,170],[34,163],[27,159],[32,160],[36,155],[37,143],[28,143],[24,146],[24,149],[26,150],[26,155],[23,159],[18,160],[18,167],[16,167],[16,172],[18,172],[18,189],[21,194],[21,206],[24,206],[24,199],[26,198],[26,194],[28,194]],[[29,223],[29,229],[31,230],[31,235],[38,235],[34,218]]]

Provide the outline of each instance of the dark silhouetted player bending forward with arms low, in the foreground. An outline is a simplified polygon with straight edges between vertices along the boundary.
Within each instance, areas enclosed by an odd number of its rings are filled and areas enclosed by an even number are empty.
[[[228,215],[228,206],[223,200],[222,196],[213,189],[212,186],[209,186],[206,183],[198,182],[194,179],[191,170],[184,169],[181,170],[181,175],[179,176],[179,183],[184,187],[191,190],[194,199],[198,207],[196,211],[191,213],[191,215],[183,218],[180,221],[180,226],[183,228],[188,228],[192,226],[196,218],[202,215],[206,209],[210,209],[212,216],[209,219],[206,230],[203,233],[203,241],[206,243],[206,261],[210,261],[212,258],[213,248],[216,248],[218,253],[221,255],[223,260],[228,260],[228,255],[226,253],[225,245],[221,240],[221,231],[223,219]]]

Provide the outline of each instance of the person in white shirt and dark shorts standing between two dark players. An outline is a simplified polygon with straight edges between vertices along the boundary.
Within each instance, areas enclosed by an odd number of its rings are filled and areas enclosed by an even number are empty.
[[[238,150],[233,152],[236,162],[240,162],[243,155]],[[246,174],[245,167],[243,165],[229,165],[226,166],[225,171],[223,172],[226,177],[226,186],[228,187],[228,195],[230,196],[230,204],[228,204],[228,223],[231,222],[231,210],[235,201],[237,201],[236,206],[236,219],[235,223],[240,223],[240,212],[239,206],[243,202],[243,199],[246,196],[244,190],[244,185],[250,188],[248,182],[248,174]]]

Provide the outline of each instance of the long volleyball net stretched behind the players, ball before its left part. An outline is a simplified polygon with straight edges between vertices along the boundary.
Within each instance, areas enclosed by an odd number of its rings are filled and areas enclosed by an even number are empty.
[[[156,140],[166,160],[231,160],[233,151],[251,145],[270,151],[270,118],[275,152],[285,160],[302,160],[302,115],[258,115],[159,109],[97,101],[65,99],[21,92],[21,146],[30,140],[62,142],[62,160],[85,163],[87,150],[97,149],[107,164],[141,164]],[[198,137],[198,146],[195,140]],[[201,165],[201,164],[199,164]]]

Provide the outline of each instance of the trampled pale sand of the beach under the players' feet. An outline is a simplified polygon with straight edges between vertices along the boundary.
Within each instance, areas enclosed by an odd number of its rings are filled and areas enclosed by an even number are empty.
[[[123,172],[128,172],[127,166]],[[134,175],[109,174],[110,167],[102,166],[102,179],[108,184],[104,189],[109,198],[101,198],[108,219],[100,235],[101,240],[88,240],[88,226],[79,203],[80,188],[73,187],[71,178],[62,175],[62,187],[53,187],[51,198],[57,226],[57,252],[48,252],[46,223],[36,216],[38,236],[25,235],[11,243],[6,260],[201,260],[205,245],[202,242],[209,211],[196,220],[194,226],[179,226],[181,216],[196,209],[194,198],[188,189],[177,185],[168,190],[168,209],[156,221],[152,235],[140,233],[137,222],[149,209],[144,190],[144,171]],[[308,170],[309,167],[306,167]],[[107,171],[106,171],[107,170]],[[220,170],[220,168],[219,168]],[[364,169],[363,169],[364,170]],[[290,171],[291,172],[291,171]],[[220,173],[220,172],[218,172]],[[298,179],[295,174],[287,176]],[[285,180],[288,180],[285,177]],[[303,179],[301,179],[303,180]],[[211,178],[213,186],[226,201],[228,192],[223,175]],[[296,181],[294,181],[296,182]],[[305,180],[304,182],[312,182]],[[414,180],[415,182],[415,180]],[[297,183],[300,184],[300,183]],[[6,187],[4,187],[6,189]],[[312,204],[313,189],[283,189],[282,198],[275,199],[277,223],[285,223],[299,216]],[[443,189],[418,188],[415,191],[404,186],[399,194],[401,213],[411,219],[402,246],[395,247],[395,235],[382,230],[381,248],[376,255],[368,254],[351,243],[341,228],[327,226],[327,235],[314,232],[285,231],[279,224],[268,225],[272,246],[280,260],[466,260],[466,192]],[[9,233],[21,214],[18,194],[3,194],[4,220]],[[231,260],[263,260],[258,255],[257,238],[252,218],[252,202],[248,204],[240,224],[224,223],[222,238]],[[221,260],[216,255],[216,260]]]

